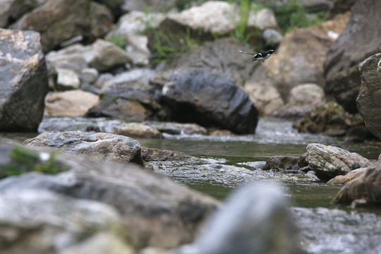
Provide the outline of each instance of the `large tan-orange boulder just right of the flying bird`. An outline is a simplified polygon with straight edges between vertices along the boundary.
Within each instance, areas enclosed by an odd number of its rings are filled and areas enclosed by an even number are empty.
[[[344,30],[348,18],[347,13],[310,28],[297,28],[288,32],[276,54],[265,61],[263,66],[277,81],[277,89],[285,102],[289,91],[296,85],[324,85],[322,65],[334,41],[330,34]]]

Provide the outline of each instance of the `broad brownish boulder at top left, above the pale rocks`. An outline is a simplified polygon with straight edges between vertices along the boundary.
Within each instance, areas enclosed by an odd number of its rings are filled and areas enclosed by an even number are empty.
[[[82,35],[85,40],[102,37],[110,30],[113,19],[109,9],[94,1],[48,0],[26,13],[11,28],[40,32],[42,48],[49,52],[76,35]]]

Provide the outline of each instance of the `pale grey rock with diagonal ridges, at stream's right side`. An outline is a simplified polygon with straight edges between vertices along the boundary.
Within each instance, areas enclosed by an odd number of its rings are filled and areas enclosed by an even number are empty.
[[[307,161],[310,169],[315,171],[316,176],[322,181],[328,181],[335,176],[345,175],[353,169],[371,164],[369,159],[356,152],[316,143],[307,146]]]

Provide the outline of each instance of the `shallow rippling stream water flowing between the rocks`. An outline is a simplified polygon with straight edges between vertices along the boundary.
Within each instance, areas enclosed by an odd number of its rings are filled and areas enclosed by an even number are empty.
[[[42,131],[108,132],[120,121],[84,118],[44,118]],[[37,133],[0,133],[22,142]],[[145,147],[185,152],[197,162],[150,162],[159,174],[171,177],[202,193],[224,200],[243,184],[281,183],[293,204],[307,253],[381,253],[380,210],[350,210],[330,201],[341,186],[328,185],[309,174],[263,171],[274,155],[299,157],[309,143],[335,145],[368,159],[377,159],[381,143],[346,143],[325,135],[298,133],[289,121],[260,119],[255,135],[169,135],[164,139],[138,139]]]

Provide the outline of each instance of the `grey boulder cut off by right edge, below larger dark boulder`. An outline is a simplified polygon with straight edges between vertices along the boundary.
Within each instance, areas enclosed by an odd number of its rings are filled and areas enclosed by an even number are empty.
[[[361,87],[356,99],[366,128],[381,139],[381,53],[370,56],[358,65]]]

